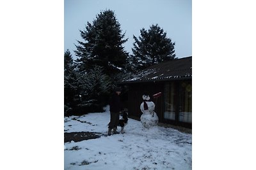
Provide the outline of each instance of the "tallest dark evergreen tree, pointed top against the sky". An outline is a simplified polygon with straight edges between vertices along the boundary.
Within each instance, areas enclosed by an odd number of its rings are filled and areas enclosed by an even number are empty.
[[[128,53],[122,46],[124,39],[120,24],[111,10],[100,12],[92,24],[87,22],[86,30],[80,31],[83,41],[77,41],[75,51],[79,71],[88,71],[101,66],[104,73],[114,78],[122,73],[127,63]]]

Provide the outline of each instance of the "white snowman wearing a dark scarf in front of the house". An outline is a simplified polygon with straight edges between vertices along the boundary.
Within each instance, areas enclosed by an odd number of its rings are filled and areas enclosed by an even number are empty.
[[[150,101],[150,97],[147,94],[143,94],[142,99],[143,103],[140,104],[140,110],[142,111],[142,115],[140,117],[141,124],[146,128],[156,126],[158,123],[158,117],[154,111],[154,102]]]

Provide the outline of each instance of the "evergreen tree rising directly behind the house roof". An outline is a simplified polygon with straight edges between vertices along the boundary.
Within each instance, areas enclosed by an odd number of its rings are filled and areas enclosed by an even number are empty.
[[[140,30],[140,37],[133,36],[133,55],[130,57],[136,69],[144,69],[164,60],[175,59],[175,50],[172,39],[166,37],[166,32],[159,25],[152,25],[146,31]]]

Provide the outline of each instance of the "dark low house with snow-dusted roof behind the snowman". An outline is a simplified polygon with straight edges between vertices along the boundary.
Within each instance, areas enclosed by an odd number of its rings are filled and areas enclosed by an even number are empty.
[[[192,57],[161,62],[120,81],[129,117],[140,118],[142,95],[156,104],[159,122],[192,128]],[[157,99],[152,96],[161,92]]]

